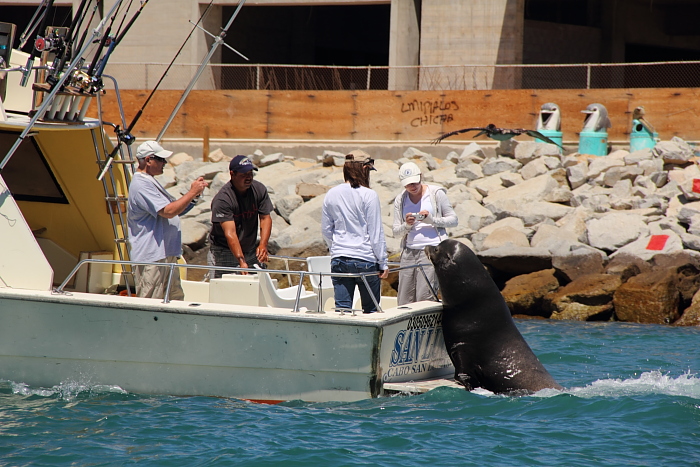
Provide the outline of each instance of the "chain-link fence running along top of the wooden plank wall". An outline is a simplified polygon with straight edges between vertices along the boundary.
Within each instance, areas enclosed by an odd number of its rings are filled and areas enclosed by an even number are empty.
[[[152,89],[167,68],[158,63],[110,63],[122,89]],[[175,64],[160,89],[183,89],[198,68]],[[207,65],[195,89],[273,91],[600,89],[700,87],[700,61],[578,65],[451,65],[340,67]]]

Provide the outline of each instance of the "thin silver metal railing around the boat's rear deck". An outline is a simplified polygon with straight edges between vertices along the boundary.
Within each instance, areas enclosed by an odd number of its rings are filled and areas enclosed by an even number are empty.
[[[305,277],[310,277],[310,276],[318,276],[319,282],[323,280],[324,277],[352,277],[352,278],[361,278],[362,282],[364,283],[365,287],[367,290],[369,290],[369,283],[367,282],[367,276],[371,276],[374,274],[377,274],[376,272],[370,272],[370,273],[336,273],[336,272],[318,272],[318,271],[306,271],[306,270],[291,270],[289,268],[290,261],[299,261],[303,262],[306,264],[306,260],[304,258],[297,258],[293,256],[270,256],[271,259],[278,259],[282,260],[285,262],[286,269],[268,269],[268,268],[260,268],[260,269],[250,269],[250,268],[240,268],[240,267],[229,267],[229,266],[210,266],[210,265],[202,265],[202,264],[180,264],[180,263],[160,263],[160,262],[147,262],[147,261],[123,261],[123,260],[108,260],[108,259],[96,259],[96,258],[87,258],[83,259],[78,262],[78,264],[75,265],[73,270],[66,276],[66,278],[63,280],[63,282],[56,288],[53,289],[53,292],[56,294],[69,294],[69,291],[66,291],[66,286],[70,281],[73,279],[73,277],[76,275],[78,270],[80,270],[81,267],[88,265],[88,264],[112,264],[112,265],[118,265],[118,266],[130,266],[131,269],[133,270],[133,266],[158,266],[158,267],[167,267],[169,269],[168,271],[168,282],[165,290],[165,298],[163,298],[162,303],[170,303],[170,289],[171,289],[171,284],[172,284],[172,278],[173,274],[175,273],[175,268],[185,268],[185,269],[206,269],[209,271],[221,271],[222,273],[226,274],[257,274],[257,273],[267,273],[267,274],[281,274],[281,275],[286,275],[289,278],[289,284],[292,284],[291,278],[294,276],[299,277],[299,287],[297,288],[297,293],[296,293],[296,298],[294,301],[294,307],[292,308],[293,313],[298,313],[301,311],[301,308],[299,306],[299,302],[301,300],[301,294],[305,290],[303,283],[304,283],[304,278]],[[424,271],[424,266],[429,266],[428,264],[417,264],[417,265],[411,265],[411,266],[404,266],[400,267],[398,266],[397,263],[389,263],[390,269],[389,272],[398,272],[403,269],[414,269],[418,268],[423,277],[425,278],[426,282],[428,283],[428,286],[430,287],[430,290],[433,294],[433,297],[435,300],[438,300],[438,295],[437,292],[433,289],[433,287],[430,285],[430,281],[428,280],[428,277]],[[391,267],[391,266],[396,266],[396,267]],[[124,271],[126,269],[124,268]],[[125,272],[123,272],[124,274]],[[179,274],[179,269],[178,272]],[[125,280],[125,283],[127,285],[127,293],[131,294],[131,291],[129,289],[129,281]],[[370,298],[374,302],[374,305],[377,308],[377,312],[383,313],[384,310],[381,307],[380,301],[377,300],[377,298],[374,296],[374,294],[369,294]],[[357,310],[354,310],[352,308],[348,309],[337,309],[337,311],[340,311],[341,313],[349,312],[355,315],[355,312]],[[323,311],[323,296],[321,291],[319,290],[318,294],[318,306],[316,310],[307,310],[307,313],[324,313]]]

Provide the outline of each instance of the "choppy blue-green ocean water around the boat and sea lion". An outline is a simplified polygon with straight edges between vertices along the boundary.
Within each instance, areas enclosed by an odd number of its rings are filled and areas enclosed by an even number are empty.
[[[0,381],[0,465],[700,466],[700,329],[518,327],[563,391],[262,405]]]

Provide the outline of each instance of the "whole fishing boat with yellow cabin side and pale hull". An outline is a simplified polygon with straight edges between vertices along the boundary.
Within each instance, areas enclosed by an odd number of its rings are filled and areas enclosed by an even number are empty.
[[[105,128],[115,125],[86,116],[90,101],[99,110],[103,91],[95,83],[106,77],[99,65],[79,66],[82,52],[60,75],[50,66],[55,56],[22,66],[34,57],[19,51],[6,68],[0,379],[271,403],[353,401],[451,384],[443,379],[454,368],[439,302],[396,306],[383,297],[380,312],[339,312],[329,308],[327,289],[299,285],[311,273],[289,269],[184,279],[182,301],[134,296],[129,135],[117,126],[113,142]],[[32,73],[36,81],[23,91]],[[193,266],[167,267],[186,277]],[[277,288],[274,273],[296,275],[297,286]],[[329,275],[311,277],[328,283]]]

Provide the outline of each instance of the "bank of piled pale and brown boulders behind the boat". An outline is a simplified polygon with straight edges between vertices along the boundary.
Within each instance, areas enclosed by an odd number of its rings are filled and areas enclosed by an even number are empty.
[[[513,315],[700,325],[700,169],[683,140],[603,157],[514,140],[472,143],[444,159],[414,148],[403,156],[377,160],[372,173],[390,255],[399,253],[391,237],[398,168],[412,160],[427,183],[447,188],[459,216],[449,234],[477,253]],[[250,157],[275,204],[271,250],[326,254],[321,203],[343,181],[344,154]],[[175,155],[160,176],[177,196],[198,176],[211,181],[183,217],[183,242],[194,258],[206,251],[211,199],[229,180],[230,157],[215,151],[209,159]]]

